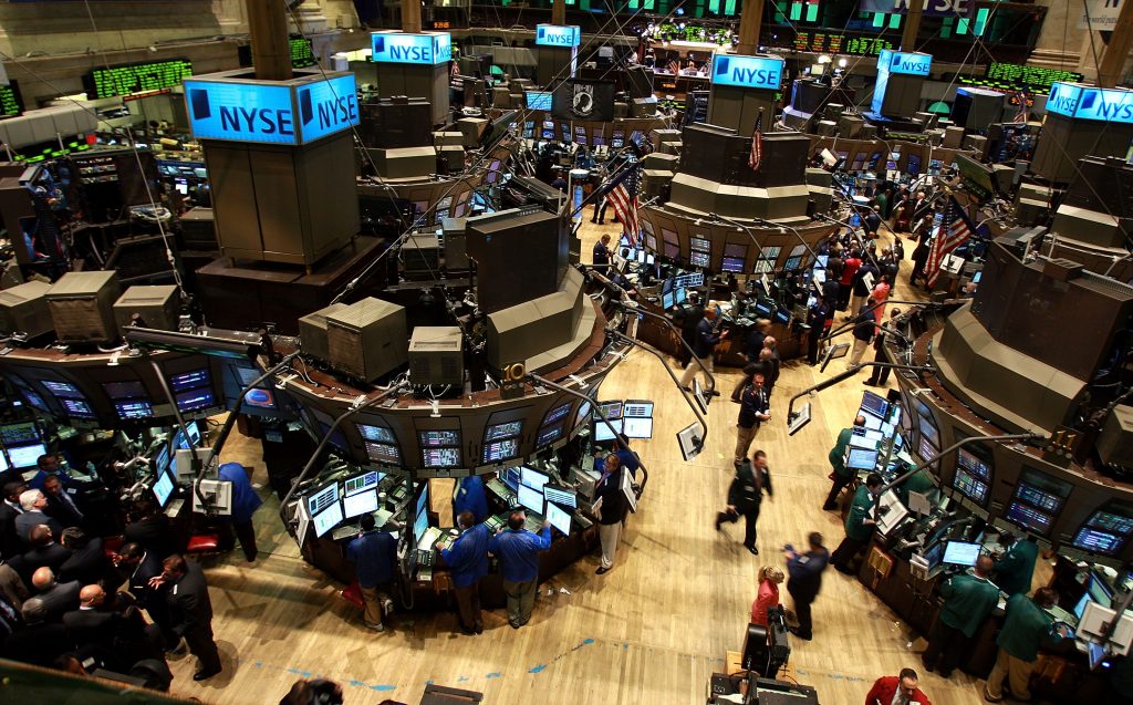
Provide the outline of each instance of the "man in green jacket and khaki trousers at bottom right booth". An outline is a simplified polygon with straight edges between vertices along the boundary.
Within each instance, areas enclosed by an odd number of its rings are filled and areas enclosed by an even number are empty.
[[[1040,587],[1034,597],[1019,593],[1007,601],[1007,618],[996,644],[999,655],[988,676],[983,699],[998,703],[1003,699],[1003,681],[1008,680],[1016,700],[1031,699],[1031,671],[1039,657],[1039,646],[1054,646],[1070,636],[1065,627],[1054,629],[1054,617],[1047,610],[1055,605],[1058,594],[1054,588]]]

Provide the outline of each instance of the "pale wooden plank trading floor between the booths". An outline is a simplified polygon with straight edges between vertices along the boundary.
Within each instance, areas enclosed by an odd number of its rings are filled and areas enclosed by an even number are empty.
[[[616,237],[616,226],[605,229]],[[598,232],[587,221],[586,261]],[[894,298],[909,294],[902,282]],[[719,377],[725,390],[738,380],[734,372]],[[452,613],[399,613],[392,629],[374,634],[337,595],[341,586],[298,558],[273,500],[256,516],[262,558],[254,566],[239,550],[206,563],[224,672],[195,683],[195,659],[182,656],[172,663],[173,693],[206,703],[273,703],[297,678],[320,676],[342,683],[347,703],[389,697],[416,705],[429,682],[483,691],[493,704],[704,703],[709,674],[741,646],[757,569],[782,564],[783,544],[801,545],[811,530],[832,547],[843,536],[837,516],[819,506],[829,487],[827,451],[851,423],[861,381],[815,397],[813,421],[795,436],[784,428],[786,400],[820,377],[804,363],[786,364],[775,421],[753,444],[767,451],[776,489],[764,502],[757,558],[741,546],[741,525],[713,530],[731,478],[738,407],[726,396],[716,399],[705,452],[682,461],[674,434],[692,413],[657,360],[637,353],[602,389],[607,399],[656,401],[655,439],[634,447],[649,484],[612,572],[596,576],[594,555],[559,575],[542,587],[531,623],[519,631],[496,611],[479,637],[460,635]],[[254,466],[257,484],[265,482],[257,443],[235,435],[224,459]],[[877,677],[920,670],[923,640],[855,580],[827,571],[813,614],[815,640],[793,643],[791,662],[823,705],[858,705]],[[982,702],[966,676],[923,674],[921,685],[937,705]]]

